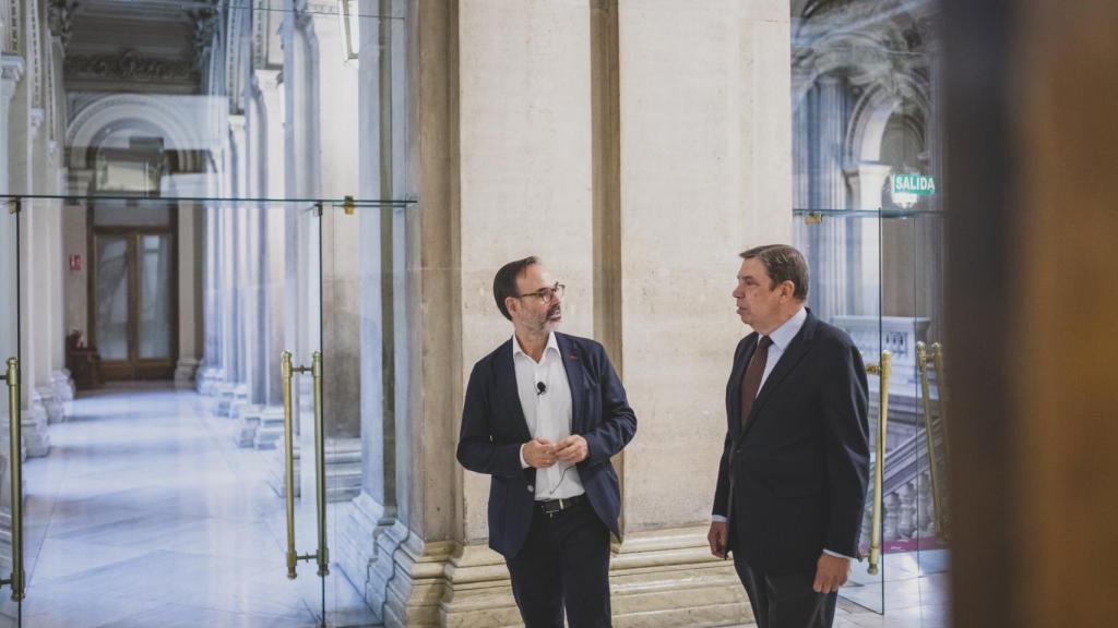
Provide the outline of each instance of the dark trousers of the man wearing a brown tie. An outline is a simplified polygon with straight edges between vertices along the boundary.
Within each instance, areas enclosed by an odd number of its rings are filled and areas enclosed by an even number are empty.
[[[812,590],[815,572],[765,573],[733,553],[733,568],[754,607],[757,628],[831,628],[839,593]]]

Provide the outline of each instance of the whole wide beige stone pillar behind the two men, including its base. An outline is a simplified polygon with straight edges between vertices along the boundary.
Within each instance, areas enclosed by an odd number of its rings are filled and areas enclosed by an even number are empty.
[[[493,273],[529,254],[568,285],[565,331],[606,342],[639,421],[615,460],[614,625],[748,620],[705,531],[748,331],[729,294],[737,254],[792,232],[788,16],[732,0],[409,7],[419,206],[397,515],[370,575],[386,626],[519,622],[485,544],[489,478],[453,453],[470,370],[510,333]]]

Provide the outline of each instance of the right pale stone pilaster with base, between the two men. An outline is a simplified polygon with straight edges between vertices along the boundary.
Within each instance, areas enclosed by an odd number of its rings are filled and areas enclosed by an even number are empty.
[[[746,333],[737,254],[792,237],[787,2],[619,2],[623,462],[617,625],[743,621],[705,533]],[[644,624],[642,624],[644,625]]]

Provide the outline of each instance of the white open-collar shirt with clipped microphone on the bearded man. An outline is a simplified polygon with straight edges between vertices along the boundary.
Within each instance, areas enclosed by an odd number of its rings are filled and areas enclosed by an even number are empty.
[[[528,432],[532,438],[543,437],[550,443],[559,443],[570,436],[570,383],[567,381],[567,369],[562,365],[556,334],[548,336],[548,345],[539,362],[524,353],[513,334],[512,361]],[[542,393],[539,387],[541,382],[544,390]],[[523,445],[520,446],[520,465],[528,468]],[[546,469],[536,469],[536,486],[532,489],[537,502],[566,499],[586,492],[578,476],[578,468],[561,460],[556,460],[555,465]]]

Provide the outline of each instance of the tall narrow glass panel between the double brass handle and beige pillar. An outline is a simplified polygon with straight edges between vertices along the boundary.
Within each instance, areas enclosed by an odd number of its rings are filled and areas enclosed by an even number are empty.
[[[322,219],[330,626],[385,621],[386,592],[372,583],[389,578],[395,552],[378,559],[368,540],[388,548],[406,539],[395,460],[397,429],[406,424],[397,409],[406,408],[398,382],[407,364],[408,211],[332,204]]]

